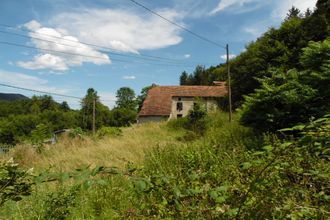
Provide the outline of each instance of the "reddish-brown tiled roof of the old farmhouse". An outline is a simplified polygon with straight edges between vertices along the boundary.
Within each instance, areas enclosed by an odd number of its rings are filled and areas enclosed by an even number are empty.
[[[168,116],[172,97],[222,97],[227,94],[225,84],[219,86],[154,86],[148,91],[139,116]]]

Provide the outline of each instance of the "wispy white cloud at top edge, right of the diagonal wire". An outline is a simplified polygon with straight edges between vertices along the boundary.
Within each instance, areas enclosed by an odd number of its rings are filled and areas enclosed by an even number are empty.
[[[234,13],[244,13],[258,9],[267,1],[262,0],[220,0],[218,5],[209,13],[215,15],[221,11],[227,10]]]

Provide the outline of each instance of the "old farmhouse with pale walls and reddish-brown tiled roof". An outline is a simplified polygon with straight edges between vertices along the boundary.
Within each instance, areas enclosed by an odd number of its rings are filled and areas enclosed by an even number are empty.
[[[197,98],[211,110],[217,107],[217,98],[226,95],[224,82],[214,82],[214,86],[154,86],[143,102],[138,122],[185,117]]]

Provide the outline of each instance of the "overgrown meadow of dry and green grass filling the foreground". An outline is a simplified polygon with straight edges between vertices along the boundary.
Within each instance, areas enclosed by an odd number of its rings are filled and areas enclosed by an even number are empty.
[[[34,176],[44,173],[52,180],[33,184],[30,195],[19,201],[5,202],[0,215],[5,219],[330,216],[328,154],[310,148],[328,138],[322,133],[328,131],[327,118],[306,126],[301,138],[282,140],[256,134],[239,125],[236,117],[229,123],[221,112],[199,122],[205,123],[202,134],[188,130],[185,123],[182,119],[134,125],[115,137],[63,138],[41,153],[19,146],[3,159],[13,157],[23,170],[33,167]],[[27,156],[23,158],[22,152]]]

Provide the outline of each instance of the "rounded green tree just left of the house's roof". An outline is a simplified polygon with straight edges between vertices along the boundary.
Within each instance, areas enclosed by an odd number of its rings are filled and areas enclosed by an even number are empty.
[[[130,110],[137,109],[137,101],[135,100],[135,92],[129,87],[122,87],[117,90],[117,108],[125,108]]]

